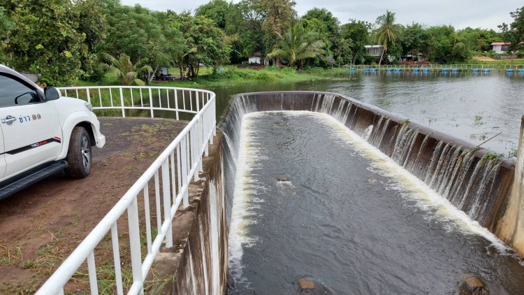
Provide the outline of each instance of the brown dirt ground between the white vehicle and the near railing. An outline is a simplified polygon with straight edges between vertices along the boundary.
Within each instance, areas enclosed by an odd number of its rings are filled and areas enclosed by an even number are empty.
[[[0,294],[33,294],[186,122],[100,118],[103,149],[80,180],[51,176],[0,201]]]

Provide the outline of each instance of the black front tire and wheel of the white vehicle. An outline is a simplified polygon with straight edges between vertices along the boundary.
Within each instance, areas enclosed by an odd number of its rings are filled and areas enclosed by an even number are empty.
[[[71,132],[66,161],[66,174],[71,178],[85,178],[91,173],[91,138],[84,127],[77,126]]]

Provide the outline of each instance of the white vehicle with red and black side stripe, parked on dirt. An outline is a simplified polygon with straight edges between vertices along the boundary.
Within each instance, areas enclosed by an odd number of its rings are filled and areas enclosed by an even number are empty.
[[[105,144],[89,103],[42,89],[2,65],[0,122],[0,199],[64,169],[86,177],[91,147]]]

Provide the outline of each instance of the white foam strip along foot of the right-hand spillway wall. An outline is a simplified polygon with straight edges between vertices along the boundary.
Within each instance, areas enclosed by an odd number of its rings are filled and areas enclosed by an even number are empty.
[[[286,111],[286,113],[287,112],[288,111]],[[297,113],[295,111],[289,112]],[[511,249],[505,245],[502,240],[497,238],[497,236],[488,231],[488,229],[481,226],[479,222],[472,220],[466,213],[458,210],[458,208],[453,206],[446,198],[440,196],[435,190],[428,187],[422,180],[419,180],[419,178],[416,178],[416,176],[409,173],[405,168],[399,166],[393,159],[377,149],[377,147],[367,143],[364,138],[358,136],[358,134],[351,131],[351,129],[330,115],[307,111],[300,111],[298,113],[302,113],[301,115],[307,113],[331,127],[333,136],[342,139],[345,143],[353,147],[358,154],[370,160],[372,170],[391,179],[391,189],[402,192],[402,196],[406,199],[416,201],[416,205],[428,213],[428,219],[438,218],[446,222],[444,226],[448,230],[460,229],[464,233],[483,236],[483,238],[490,241],[491,246],[500,252],[507,252],[507,250]]]

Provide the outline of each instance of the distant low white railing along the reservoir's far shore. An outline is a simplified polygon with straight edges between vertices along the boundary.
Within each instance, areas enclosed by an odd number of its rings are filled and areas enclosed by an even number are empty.
[[[353,65],[347,66],[347,69],[430,69],[430,70],[439,70],[439,69],[497,69],[497,70],[507,70],[507,69],[524,69],[524,64],[386,64],[386,65]]]

